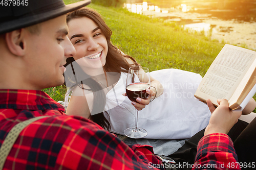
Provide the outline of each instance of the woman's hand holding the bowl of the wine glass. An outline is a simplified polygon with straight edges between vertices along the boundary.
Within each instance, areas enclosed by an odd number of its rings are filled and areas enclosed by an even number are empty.
[[[147,89],[146,93],[149,94],[147,99],[141,99],[137,98],[137,102],[132,102],[132,105],[135,107],[137,110],[142,110],[146,107],[146,105],[150,104],[150,100],[155,98],[156,92],[155,89]],[[126,93],[123,93],[124,96],[127,96]]]

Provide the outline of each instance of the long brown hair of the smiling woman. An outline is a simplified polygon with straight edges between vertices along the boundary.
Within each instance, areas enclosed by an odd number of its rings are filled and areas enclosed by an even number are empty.
[[[133,57],[131,57],[129,55],[122,54],[121,51],[115,45],[112,44],[112,42],[110,41],[112,31],[106,25],[102,16],[97,11],[95,11],[93,9],[90,9],[88,7],[80,8],[76,11],[73,11],[73,12],[70,12],[70,13],[67,14],[67,23],[72,19],[81,18],[81,17],[88,17],[88,18],[92,19],[96,23],[96,25],[100,28],[103,35],[106,37],[106,41],[108,43],[108,54],[106,55],[106,63],[103,66],[105,71],[107,71],[107,72],[118,72],[118,73],[128,72],[129,67],[139,65]],[[125,60],[125,57],[130,58],[134,62],[134,64],[129,64]],[[74,60],[73,57],[68,58],[67,59],[67,64],[65,65],[65,67],[69,64],[72,64],[72,62],[74,62],[74,61],[75,60]],[[84,74],[86,74],[86,73],[84,73]],[[81,83],[79,82],[79,83],[76,83],[74,86],[72,86],[72,88],[75,88],[77,85],[79,87],[81,87]],[[94,88],[95,87],[95,82],[93,82],[91,85],[90,85],[90,83],[89,84],[87,83],[87,85],[91,88]],[[100,85],[99,85],[99,87],[100,87]],[[94,91],[94,90],[92,89],[92,91]],[[103,95],[101,95],[101,98],[102,98],[102,96]],[[104,98],[105,98],[105,95],[104,95]],[[103,100],[104,102],[100,104],[102,106],[98,106],[96,99],[97,99],[96,96],[94,96],[93,107],[104,108],[106,100],[104,99]],[[103,111],[103,109],[102,109],[102,111]],[[103,112],[92,115],[91,117],[92,117],[92,120],[95,123],[97,123],[98,125],[100,125],[101,127],[105,128],[107,130],[111,129],[110,123],[105,118]]]

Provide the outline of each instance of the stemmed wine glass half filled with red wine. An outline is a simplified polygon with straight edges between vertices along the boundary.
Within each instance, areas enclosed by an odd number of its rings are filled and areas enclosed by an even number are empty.
[[[132,102],[136,102],[137,98],[147,99],[148,93],[146,89],[150,88],[150,71],[146,67],[134,66],[130,67],[126,79],[126,94]],[[131,138],[142,138],[147,135],[143,128],[138,128],[138,110],[136,109],[135,127],[127,128],[124,134]]]

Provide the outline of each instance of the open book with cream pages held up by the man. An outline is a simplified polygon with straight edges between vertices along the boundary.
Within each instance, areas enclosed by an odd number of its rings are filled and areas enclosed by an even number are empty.
[[[218,106],[227,99],[231,110],[244,108],[256,92],[256,52],[226,44],[210,65],[195,97]],[[255,86],[254,86],[255,85]]]

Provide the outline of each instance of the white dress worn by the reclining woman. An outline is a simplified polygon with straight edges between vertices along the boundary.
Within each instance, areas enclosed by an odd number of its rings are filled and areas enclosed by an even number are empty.
[[[135,108],[125,93],[126,73],[106,94],[105,111],[110,115],[111,132],[124,135],[123,131],[135,126]],[[160,81],[164,92],[138,113],[138,127],[147,131],[144,138],[190,138],[209,123],[210,111],[194,94],[202,77],[194,72],[179,69],[152,71],[150,75]],[[108,117],[108,116],[106,116]]]

